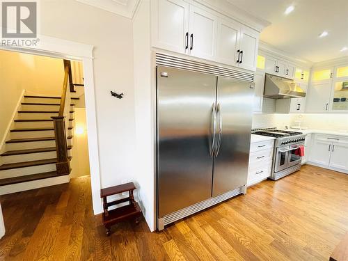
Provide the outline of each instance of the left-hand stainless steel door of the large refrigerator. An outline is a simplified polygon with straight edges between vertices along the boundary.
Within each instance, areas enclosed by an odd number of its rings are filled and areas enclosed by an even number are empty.
[[[159,218],[212,196],[215,101],[216,77],[157,68]]]

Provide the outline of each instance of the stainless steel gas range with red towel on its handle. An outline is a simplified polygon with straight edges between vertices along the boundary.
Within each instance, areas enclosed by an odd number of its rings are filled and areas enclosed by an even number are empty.
[[[276,128],[255,129],[253,134],[276,138],[272,172],[271,177],[269,177],[271,180],[278,180],[299,171],[302,160],[299,150],[303,150],[301,147],[303,147],[306,139],[305,134]]]

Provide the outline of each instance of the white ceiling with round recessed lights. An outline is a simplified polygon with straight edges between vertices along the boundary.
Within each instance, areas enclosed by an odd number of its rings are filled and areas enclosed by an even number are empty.
[[[348,56],[347,0],[228,0],[233,5],[271,22],[260,40],[311,62]],[[284,15],[288,6],[296,8]],[[329,35],[319,38],[323,31]]]

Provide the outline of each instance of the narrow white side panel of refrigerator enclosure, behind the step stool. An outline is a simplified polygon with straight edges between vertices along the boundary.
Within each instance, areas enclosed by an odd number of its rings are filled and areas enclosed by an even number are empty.
[[[136,181],[143,214],[155,230],[155,172],[151,84],[150,1],[141,1],[133,19],[136,117]]]

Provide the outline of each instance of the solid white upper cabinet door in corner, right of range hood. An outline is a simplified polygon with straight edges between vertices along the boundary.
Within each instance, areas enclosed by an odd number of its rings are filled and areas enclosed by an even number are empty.
[[[306,98],[306,112],[329,111],[331,81],[313,82]]]

